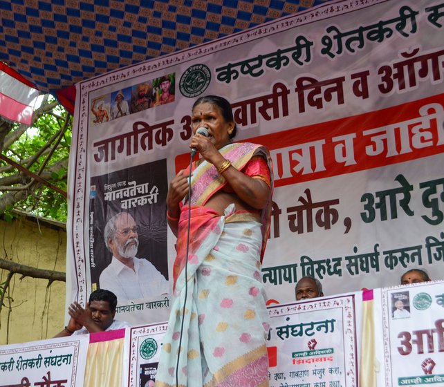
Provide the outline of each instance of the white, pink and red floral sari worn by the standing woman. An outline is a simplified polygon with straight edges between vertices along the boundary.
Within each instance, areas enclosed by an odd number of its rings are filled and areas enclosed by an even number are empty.
[[[235,153],[240,155],[243,161],[235,167],[241,169],[259,146],[238,145],[243,144],[230,144],[221,153],[232,162]],[[212,168],[204,162],[193,173],[186,296],[188,206],[181,210],[174,263],[176,299],[156,375],[158,387],[176,386],[178,356],[178,386],[268,386],[269,325],[260,258],[269,210],[257,214],[235,211],[230,205],[220,216],[201,207],[225,184]],[[268,216],[265,224],[263,213]]]

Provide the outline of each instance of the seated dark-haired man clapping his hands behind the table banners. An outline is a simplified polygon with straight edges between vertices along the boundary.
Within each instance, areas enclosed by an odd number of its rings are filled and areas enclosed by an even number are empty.
[[[95,290],[89,296],[86,309],[76,302],[69,306],[68,313],[71,319],[65,329],[56,334],[55,337],[131,327],[129,323],[114,319],[116,306],[117,297],[113,292],[105,289]]]

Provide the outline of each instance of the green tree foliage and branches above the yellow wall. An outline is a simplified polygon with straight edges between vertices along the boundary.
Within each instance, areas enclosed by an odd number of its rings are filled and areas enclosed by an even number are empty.
[[[72,120],[57,101],[45,95],[33,117],[32,128],[39,129],[39,136],[28,137],[29,127],[0,121],[0,214],[26,207],[44,216],[66,218]]]

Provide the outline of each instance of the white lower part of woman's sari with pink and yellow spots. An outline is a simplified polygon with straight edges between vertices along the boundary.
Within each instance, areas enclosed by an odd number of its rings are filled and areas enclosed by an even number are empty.
[[[269,325],[258,264],[261,224],[230,222],[233,214],[231,205],[225,216],[216,219],[216,224],[214,218],[209,220],[212,232],[194,251],[198,263],[189,262],[187,268],[185,334],[178,372],[181,386],[268,385],[266,328]],[[185,302],[185,279],[180,281],[181,276],[172,306],[178,311],[183,310]],[[156,386],[176,385],[181,319],[181,313],[171,314]]]

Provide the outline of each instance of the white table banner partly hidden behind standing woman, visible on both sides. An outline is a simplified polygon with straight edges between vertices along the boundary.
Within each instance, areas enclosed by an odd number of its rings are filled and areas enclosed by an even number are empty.
[[[361,292],[268,307],[270,387],[358,386]],[[128,387],[152,387],[167,323],[131,328]]]

